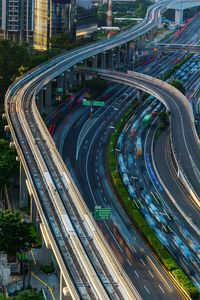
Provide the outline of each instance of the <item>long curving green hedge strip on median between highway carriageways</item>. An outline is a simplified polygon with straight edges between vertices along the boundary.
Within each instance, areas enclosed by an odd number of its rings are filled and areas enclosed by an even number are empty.
[[[140,233],[143,235],[146,242],[154,250],[156,256],[165,267],[167,271],[170,271],[174,278],[179,282],[183,289],[188,293],[192,299],[199,299],[199,292],[197,288],[193,285],[187,275],[183,270],[177,265],[175,259],[171,256],[169,251],[161,244],[159,239],[156,237],[154,231],[149,227],[139,208],[136,206],[136,202],[130,200],[129,194],[123,185],[123,182],[116,172],[116,162],[115,162],[115,144],[117,137],[121,132],[124,124],[127,121],[128,116],[133,112],[134,108],[129,109],[124,118],[115,127],[117,132],[113,132],[110,138],[108,150],[107,150],[107,160],[108,160],[108,170],[113,183],[113,187],[119,196],[126,212],[128,213],[132,222],[136,225]],[[168,114],[167,114],[168,115]],[[161,119],[166,120],[167,116],[161,115]]]

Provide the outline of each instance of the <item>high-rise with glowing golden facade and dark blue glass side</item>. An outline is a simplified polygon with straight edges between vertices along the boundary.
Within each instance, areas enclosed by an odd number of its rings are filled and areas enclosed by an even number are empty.
[[[35,0],[34,47],[46,50],[54,34],[76,34],[75,0]]]

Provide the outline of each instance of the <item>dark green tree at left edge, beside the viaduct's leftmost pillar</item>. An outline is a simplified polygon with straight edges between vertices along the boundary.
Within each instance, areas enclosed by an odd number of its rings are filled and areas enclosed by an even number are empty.
[[[0,139],[0,189],[9,184],[12,175],[17,172],[16,151],[9,148],[8,141]]]

